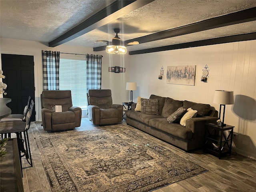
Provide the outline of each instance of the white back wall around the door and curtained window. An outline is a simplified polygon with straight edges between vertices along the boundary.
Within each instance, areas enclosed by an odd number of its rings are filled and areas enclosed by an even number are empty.
[[[42,53],[41,50],[60,51],[64,53],[76,54],[102,54],[102,89],[112,90],[112,99],[114,104],[122,104],[128,101],[129,92],[125,90],[126,77],[129,74],[128,54],[124,55],[110,55],[105,51],[93,52],[92,48],[82,46],[67,46],[60,45],[57,47],[48,47],[40,42],[6,39],[0,40],[0,53],[1,54],[19,54],[19,55],[32,55],[34,56],[34,74],[35,74],[35,108],[36,120],[40,121],[41,116],[41,102],[40,94],[42,93]],[[60,54],[61,58],[85,58],[83,55]],[[109,66],[125,67],[125,73],[108,72]],[[1,68],[1,64],[0,64]]]

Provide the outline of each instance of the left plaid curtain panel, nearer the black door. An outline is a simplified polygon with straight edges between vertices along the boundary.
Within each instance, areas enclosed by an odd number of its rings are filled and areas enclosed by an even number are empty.
[[[59,90],[60,52],[42,50],[44,90]]]

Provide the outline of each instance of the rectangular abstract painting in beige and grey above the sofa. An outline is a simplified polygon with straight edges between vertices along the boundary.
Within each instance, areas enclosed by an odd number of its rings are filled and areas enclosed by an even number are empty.
[[[196,65],[167,66],[166,83],[195,85]]]

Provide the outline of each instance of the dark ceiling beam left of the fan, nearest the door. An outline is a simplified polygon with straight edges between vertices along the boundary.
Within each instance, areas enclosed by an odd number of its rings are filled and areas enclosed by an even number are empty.
[[[73,40],[74,38],[108,24],[109,22],[116,20],[152,1],[154,0],[116,0],[78,26],[49,42],[49,47],[55,47]]]

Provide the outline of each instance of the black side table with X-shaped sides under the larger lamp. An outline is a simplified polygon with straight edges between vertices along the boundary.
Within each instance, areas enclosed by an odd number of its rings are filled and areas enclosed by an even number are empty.
[[[216,124],[205,124],[204,151],[220,157],[224,154],[231,155],[234,126],[218,126]],[[229,130],[228,136],[226,131]]]

